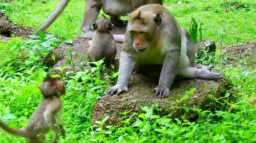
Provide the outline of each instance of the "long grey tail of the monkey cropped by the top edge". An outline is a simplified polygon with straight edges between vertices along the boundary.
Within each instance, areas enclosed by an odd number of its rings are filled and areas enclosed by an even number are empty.
[[[69,2],[70,0],[62,0],[53,13],[47,18],[47,20],[41,24],[39,28],[37,28],[34,35],[37,35],[39,31],[45,32],[46,29],[57,19],[61,12],[68,6]]]

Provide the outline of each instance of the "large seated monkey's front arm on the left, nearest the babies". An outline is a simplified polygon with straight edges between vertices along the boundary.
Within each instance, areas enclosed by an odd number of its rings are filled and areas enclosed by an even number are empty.
[[[132,76],[134,67],[135,67],[134,57],[127,52],[122,52],[120,54],[120,64],[119,64],[119,70],[118,70],[119,75],[118,75],[117,83],[116,85],[114,85],[114,87],[109,89],[108,94],[119,95],[123,91],[128,92],[127,87],[129,85],[129,80]]]

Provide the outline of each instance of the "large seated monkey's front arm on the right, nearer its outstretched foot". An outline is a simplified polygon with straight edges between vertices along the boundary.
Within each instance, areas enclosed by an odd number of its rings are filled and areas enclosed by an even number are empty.
[[[166,54],[160,74],[159,84],[155,89],[153,89],[153,91],[156,92],[156,96],[169,96],[169,88],[172,86],[178,72],[179,59],[179,48],[174,48]]]

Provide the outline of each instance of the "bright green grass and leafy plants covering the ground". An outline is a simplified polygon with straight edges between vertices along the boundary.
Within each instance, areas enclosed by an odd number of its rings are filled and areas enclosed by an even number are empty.
[[[5,7],[5,12],[18,25],[38,27],[57,6],[52,0],[46,4],[41,2],[12,1],[11,6]],[[243,1],[249,4],[244,9],[224,4],[234,1],[201,0],[188,1],[189,4],[177,2],[164,1],[164,5],[180,25],[187,29],[191,15],[200,19],[204,23],[203,38],[213,39],[223,46],[255,41],[254,1]],[[226,7],[229,8],[228,12],[224,11]],[[79,35],[83,8],[84,1],[73,0],[49,28],[49,32],[65,38]],[[27,125],[41,100],[38,86],[51,70],[41,63],[41,59],[60,42],[61,40],[51,36],[32,41],[18,37],[0,41],[0,119],[9,126],[22,128]],[[205,65],[220,65],[221,54],[223,53],[219,51],[201,53],[197,55],[197,61]],[[218,67],[230,78],[230,90],[225,95],[227,98],[213,97],[213,100],[221,104],[220,110],[202,111],[190,108],[189,110],[196,110],[200,115],[196,122],[172,120],[168,116],[159,117],[153,112],[158,110],[154,106],[142,107],[143,113],[139,115],[134,113],[135,122],[130,122],[126,112],[123,112],[123,126],[102,128],[104,121],[91,127],[93,106],[107,90],[105,80],[100,76],[102,65],[97,64],[96,68],[89,69],[92,72],[86,70],[60,75],[67,87],[67,95],[61,97],[67,136],[59,142],[256,142],[255,67]],[[111,75],[116,76],[114,73]],[[53,133],[50,133],[49,141],[52,137]],[[1,131],[0,142],[25,140]]]

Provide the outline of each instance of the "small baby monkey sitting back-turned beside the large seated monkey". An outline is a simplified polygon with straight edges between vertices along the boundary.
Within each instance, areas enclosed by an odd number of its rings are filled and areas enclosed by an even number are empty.
[[[112,33],[113,27],[114,25],[105,16],[93,23],[95,33],[88,50],[91,61],[95,62],[105,58],[104,63],[107,67],[115,65],[116,43]]]

